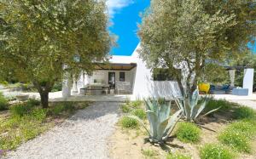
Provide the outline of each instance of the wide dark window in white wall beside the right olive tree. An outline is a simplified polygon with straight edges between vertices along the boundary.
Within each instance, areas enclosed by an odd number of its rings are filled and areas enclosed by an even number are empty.
[[[156,68],[153,70],[154,81],[173,81],[174,76],[167,69]]]

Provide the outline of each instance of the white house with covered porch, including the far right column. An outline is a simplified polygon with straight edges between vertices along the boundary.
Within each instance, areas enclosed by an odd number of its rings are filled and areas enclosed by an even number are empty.
[[[136,99],[148,97],[180,96],[177,82],[157,80],[153,72],[148,69],[139,58],[137,46],[131,56],[113,55],[109,64],[98,63],[96,71],[89,76],[81,73],[78,80],[74,80],[73,87],[68,80],[64,80],[62,95],[70,94],[98,95],[98,94],[131,94]],[[244,87],[252,94],[253,69],[245,69]]]

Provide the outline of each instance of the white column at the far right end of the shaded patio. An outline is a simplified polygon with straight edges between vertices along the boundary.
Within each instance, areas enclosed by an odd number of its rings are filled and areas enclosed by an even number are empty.
[[[244,70],[242,88],[248,89],[249,91],[248,95],[253,94],[253,74],[254,74],[254,69],[252,68]]]

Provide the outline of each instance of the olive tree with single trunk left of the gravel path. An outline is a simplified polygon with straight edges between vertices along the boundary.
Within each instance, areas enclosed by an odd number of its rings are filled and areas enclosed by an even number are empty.
[[[31,81],[44,108],[63,73],[91,72],[112,43],[105,3],[94,0],[1,0],[0,31],[1,65]]]

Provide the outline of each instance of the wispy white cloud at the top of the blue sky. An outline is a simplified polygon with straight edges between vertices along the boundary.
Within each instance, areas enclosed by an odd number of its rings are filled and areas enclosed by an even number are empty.
[[[108,0],[107,6],[109,16],[113,17],[113,14],[130,5],[131,3],[133,3],[132,0]]]

